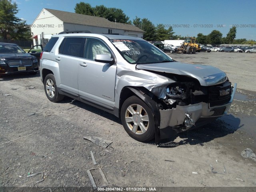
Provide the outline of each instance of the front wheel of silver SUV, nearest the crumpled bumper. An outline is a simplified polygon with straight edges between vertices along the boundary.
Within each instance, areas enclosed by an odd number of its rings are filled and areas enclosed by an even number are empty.
[[[136,96],[126,99],[121,108],[121,121],[130,137],[140,142],[152,140],[155,123],[151,109]]]

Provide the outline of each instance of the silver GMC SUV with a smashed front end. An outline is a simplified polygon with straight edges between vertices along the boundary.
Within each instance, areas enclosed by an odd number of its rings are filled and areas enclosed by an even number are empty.
[[[53,35],[40,75],[50,101],[69,96],[110,112],[141,142],[215,120],[236,91],[217,68],[177,62],[145,40],[111,34]]]

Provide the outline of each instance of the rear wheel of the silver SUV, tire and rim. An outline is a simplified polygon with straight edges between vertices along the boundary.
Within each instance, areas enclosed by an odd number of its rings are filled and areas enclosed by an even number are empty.
[[[58,102],[63,100],[64,95],[59,94],[58,88],[56,86],[55,77],[53,74],[46,75],[44,79],[44,91],[47,98],[51,102]]]

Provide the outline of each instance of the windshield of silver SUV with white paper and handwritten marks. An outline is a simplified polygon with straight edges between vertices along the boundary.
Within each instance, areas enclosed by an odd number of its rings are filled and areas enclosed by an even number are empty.
[[[172,62],[173,60],[145,40],[110,39],[123,58],[131,64]]]

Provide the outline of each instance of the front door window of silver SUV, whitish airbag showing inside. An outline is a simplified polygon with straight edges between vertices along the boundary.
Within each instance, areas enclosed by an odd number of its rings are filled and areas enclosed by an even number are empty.
[[[103,42],[97,39],[88,38],[86,41],[84,58],[94,60],[98,54],[108,54],[111,56],[109,49]]]

